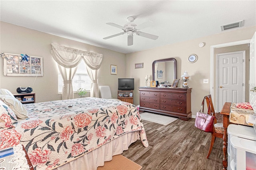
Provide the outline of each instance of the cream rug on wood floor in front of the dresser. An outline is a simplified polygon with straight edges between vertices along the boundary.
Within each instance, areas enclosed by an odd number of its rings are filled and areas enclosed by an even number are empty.
[[[178,119],[175,117],[158,115],[158,114],[148,113],[148,112],[140,113],[140,117],[142,120],[158,123],[161,125],[168,125]]]

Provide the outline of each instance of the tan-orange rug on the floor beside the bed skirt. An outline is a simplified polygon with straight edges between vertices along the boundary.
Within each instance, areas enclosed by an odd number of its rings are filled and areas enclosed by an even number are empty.
[[[97,170],[140,170],[141,168],[142,166],[130,159],[122,155],[115,155],[112,160],[105,162],[104,166],[99,166]]]

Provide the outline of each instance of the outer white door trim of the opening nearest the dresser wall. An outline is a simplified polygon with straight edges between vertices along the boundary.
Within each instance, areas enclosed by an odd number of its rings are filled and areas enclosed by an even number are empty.
[[[214,88],[214,83],[216,82],[216,80],[214,79],[214,75],[216,74],[216,73],[214,73],[214,65],[217,64],[216,63],[217,61],[216,61],[216,57],[214,57],[214,49],[220,48],[220,47],[228,47],[228,46],[233,46],[233,45],[250,43],[250,40],[251,39],[211,45],[211,49],[210,49],[210,94],[212,96],[212,99],[213,99],[215,105],[216,105],[217,97],[214,96],[214,91],[217,92],[217,90],[216,90],[217,87]],[[218,94],[216,93],[216,95],[218,95]]]

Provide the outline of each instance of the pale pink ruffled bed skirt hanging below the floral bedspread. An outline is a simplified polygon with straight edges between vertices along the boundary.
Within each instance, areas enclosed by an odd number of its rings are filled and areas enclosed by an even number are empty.
[[[122,154],[124,150],[136,140],[139,140],[139,131],[132,131],[92,150],[91,152],[68,162],[54,170],[97,170],[98,166],[104,166],[105,161],[112,160],[112,156]]]

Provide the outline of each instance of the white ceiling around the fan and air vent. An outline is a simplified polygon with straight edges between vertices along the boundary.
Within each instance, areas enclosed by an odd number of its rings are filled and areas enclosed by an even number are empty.
[[[3,22],[122,53],[219,34],[220,26],[240,20],[245,20],[244,27],[256,25],[255,0],[1,0],[0,10]],[[137,25],[148,20],[154,22],[141,31],[159,38],[151,40],[134,35],[131,46],[127,45],[127,34],[103,40],[122,32],[107,22],[124,26],[129,16],[135,18]]]

